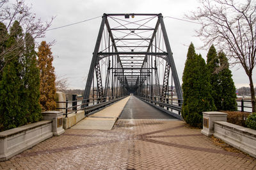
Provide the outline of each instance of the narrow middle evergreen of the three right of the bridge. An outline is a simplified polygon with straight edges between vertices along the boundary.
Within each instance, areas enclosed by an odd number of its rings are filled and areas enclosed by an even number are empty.
[[[220,61],[217,56],[216,49],[214,45],[211,45],[207,54],[207,70],[209,72],[209,80],[212,87],[212,98],[214,99],[214,104],[219,111],[221,109],[221,87],[219,73],[216,72],[220,67]]]

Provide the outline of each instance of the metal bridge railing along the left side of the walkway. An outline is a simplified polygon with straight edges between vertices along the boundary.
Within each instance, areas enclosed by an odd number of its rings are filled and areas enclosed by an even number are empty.
[[[83,100],[70,101],[66,100],[65,102],[56,102],[58,104],[65,104],[65,107],[58,107],[56,109],[65,109],[65,113],[63,113],[63,115],[65,115],[67,118],[68,114],[82,110],[84,110],[85,114],[88,114],[90,112],[96,111],[97,109],[105,107],[106,105],[112,104],[113,102],[116,102],[122,98],[124,97],[88,98]]]

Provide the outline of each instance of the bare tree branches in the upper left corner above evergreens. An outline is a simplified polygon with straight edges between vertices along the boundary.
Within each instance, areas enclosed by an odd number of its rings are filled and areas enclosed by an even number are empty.
[[[33,38],[42,38],[45,36],[45,31],[51,26],[52,17],[49,22],[43,23],[41,19],[36,19],[35,13],[31,13],[31,6],[28,6],[24,0],[15,0],[10,3],[8,0],[0,0],[0,23],[5,25],[6,34],[1,35],[0,44],[3,44],[10,38],[7,34],[13,22],[17,20],[24,30],[20,37],[20,41],[13,44],[8,49],[0,50],[0,72],[3,71],[4,66],[13,58],[20,55],[24,47],[25,35],[29,33]],[[3,27],[1,27],[3,29]],[[2,30],[3,31],[3,30]],[[15,35],[15,31],[12,32]]]

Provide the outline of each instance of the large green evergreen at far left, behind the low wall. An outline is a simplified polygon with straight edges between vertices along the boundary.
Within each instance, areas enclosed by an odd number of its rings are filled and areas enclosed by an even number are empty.
[[[13,44],[20,42],[22,37],[22,28],[19,22],[15,21],[10,29],[10,37],[6,42],[6,50],[13,47]],[[22,50],[22,49],[16,49]],[[20,52],[15,52],[15,55],[5,56],[5,58],[12,58],[3,69],[3,74],[0,81],[0,128],[7,130],[9,128],[19,127],[25,125],[26,115],[22,109],[22,63],[20,62]]]

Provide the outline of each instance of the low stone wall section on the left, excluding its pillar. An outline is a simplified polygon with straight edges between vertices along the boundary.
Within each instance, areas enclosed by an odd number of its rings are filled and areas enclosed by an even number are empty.
[[[52,137],[52,120],[38,121],[0,132],[0,161]]]

